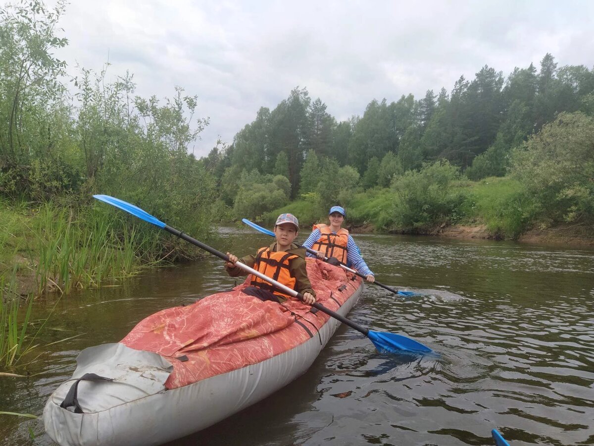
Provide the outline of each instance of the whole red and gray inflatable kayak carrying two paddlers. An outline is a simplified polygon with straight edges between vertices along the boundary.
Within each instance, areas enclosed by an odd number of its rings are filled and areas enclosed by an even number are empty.
[[[361,278],[308,259],[317,300],[346,316]],[[247,296],[244,284],[162,310],[119,343],[83,350],[43,410],[59,445],[158,445],[207,428],[307,371],[339,322],[300,301]]]

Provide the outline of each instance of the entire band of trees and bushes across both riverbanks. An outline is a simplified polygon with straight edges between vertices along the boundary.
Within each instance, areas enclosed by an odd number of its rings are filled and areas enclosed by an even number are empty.
[[[374,99],[340,122],[297,87],[196,159],[188,148],[208,125],[197,96],[175,87],[172,98],[141,98],[134,76],[113,77],[109,64],[67,77],[54,55],[69,43],[58,35],[65,7],[33,0],[0,11],[0,222],[20,234],[0,240],[0,271],[15,252],[37,259],[46,249],[54,266],[30,260],[31,268],[48,275],[40,283],[64,285],[71,265],[83,271],[90,261],[75,258],[78,247],[106,227],[115,252],[141,237],[142,262],[195,255],[170,238],[149,243],[146,225],[94,205],[93,193],[196,237],[221,221],[268,221],[279,209],[308,223],[334,203],[350,209],[350,222],[388,231],[426,233],[465,218],[490,219],[511,238],[537,223],[592,225],[594,71],[583,65],[558,67],[546,54],[507,76],[485,66],[450,91]],[[492,177],[500,179],[481,180]],[[40,213],[59,230],[26,224]]]

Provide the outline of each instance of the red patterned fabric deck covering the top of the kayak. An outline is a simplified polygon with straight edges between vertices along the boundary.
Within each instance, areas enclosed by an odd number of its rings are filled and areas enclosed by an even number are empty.
[[[317,259],[307,259],[316,299],[336,311],[359,288],[361,278]],[[168,389],[269,359],[317,335],[330,316],[298,300],[283,304],[242,293],[251,276],[231,291],[148,316],[121,341],[173,364]]]

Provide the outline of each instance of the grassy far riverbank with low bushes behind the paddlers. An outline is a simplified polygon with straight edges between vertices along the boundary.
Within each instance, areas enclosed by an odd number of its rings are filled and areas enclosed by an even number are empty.
[[[354,233],[434,235],[448,238],[516,240],[529,243],[594,244],[594,228],[587,223],[560,223],[540,216],[538,206],[527,197],[521,185],[509,177],[481,181],[456,180],[447,190],[431,196],[418,193],[414,205],[394,188],[375,188],[353,194],[346,206],[345,225]],[[412,208],[412,209],[411,209]],[[302,231],[327,219],[327,206],[320,197],[295,200],[255,219],[273,225],[279,213],[298,216]],[[407,218],[402,218],[403,214]]]

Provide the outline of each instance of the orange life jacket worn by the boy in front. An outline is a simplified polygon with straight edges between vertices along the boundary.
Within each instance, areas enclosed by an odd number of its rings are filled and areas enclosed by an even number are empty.
[[[267,275],[271,279],[282,283],[286,287],[295,290],[296,279],[295,277],[291,276],[291,272],[289,270],[290,260],[295,259],[295,257],[299,256],[296,254],[289,254],[285,251],[271,252],[270,247],[265,246],[258,250],[254,263],[254,269],[264,275]],[[285,299],[290,299],[292,297],[290,294],[283,293],[283,291],[280,291],[279,288],[254,275],[252,275],[252,281],[250,282],[250,285],[252,287],[258,287],[263,290],[271,291],[276,296],[284,297]]]

